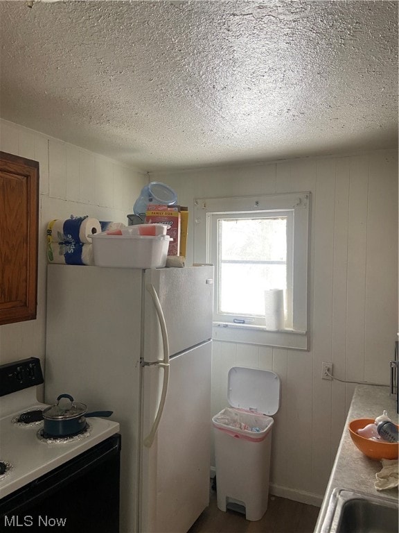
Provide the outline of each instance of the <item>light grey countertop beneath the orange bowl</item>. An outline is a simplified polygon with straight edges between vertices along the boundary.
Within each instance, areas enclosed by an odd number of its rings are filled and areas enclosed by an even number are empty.
[[[369,459],[363,455],[356,448],[348,431],[348,423],[354,418],[376,418],[384,410],[388,412],[392,421],[397,421],[396,400],[390,395],[389,387],[357,385],[314,533],[321,529],[331,493],[336,487],[367,493],[370,496],[384,496],[384,498],[398,501],[398,489],[384,491],[375,489],[375,474],[381,471],[382,464],[380,461]]]

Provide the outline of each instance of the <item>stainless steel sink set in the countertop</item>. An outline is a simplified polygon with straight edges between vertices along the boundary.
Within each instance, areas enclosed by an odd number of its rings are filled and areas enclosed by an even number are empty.
[[[323,533],[398,533],[398,502],[383,496],[335,489]]]

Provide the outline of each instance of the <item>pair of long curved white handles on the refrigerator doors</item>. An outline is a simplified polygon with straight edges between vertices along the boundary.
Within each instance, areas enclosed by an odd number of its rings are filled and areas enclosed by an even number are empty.
[[[165,316],[163,315],[161,302],[159,301],[157,291],[155,290],[154,285],[152,285],[151,283],[148,283],[148,285],[145,286],[145,289],[147,289],[148,292],[150,293],[152,301],[155,306],[155,310],[157,311],[159,325],[161,326],[161,335],[162,335],[162,343],[163,343],[163,360],[159,362],[154,362],[154,363],[145,363],[145,362],[143,363],[144,366],[161,366],[163,368],[162,391],[161,391],[161,399],[159,400],[157,416],[155,416],[154,423],[152,424],[150,433],[143,440],[144,446],[146,446],[147,448],[151,448],[152,443],[154,442],[155,434],[157,433],[159,422],[161,421],[163,407],[165,407],[165,402],[166,402],[166,393],[168,391],[169,340],[168,340],[168,330],[166,329]]]

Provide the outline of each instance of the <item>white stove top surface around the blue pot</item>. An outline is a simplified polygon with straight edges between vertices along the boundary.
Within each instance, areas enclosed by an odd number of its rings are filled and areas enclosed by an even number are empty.
[[[46,407],[48,405],[37,403],[35,386],[0,397],[0,498],[24,487],[119,431],[119,424],[109,418],[93,417],[90,418],[87,432],[73,439],[61,441],[40,438],[43,422],[34,420],[27,424],[21,423],[20,416],[25,412],[40,411]]]

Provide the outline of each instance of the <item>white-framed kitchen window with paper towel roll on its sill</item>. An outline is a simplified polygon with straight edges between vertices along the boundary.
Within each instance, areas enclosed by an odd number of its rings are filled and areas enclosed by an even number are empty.
[[[195,201],[195,261],[215,266],[215,339],[308,348],[309,204],[309,192]]]

